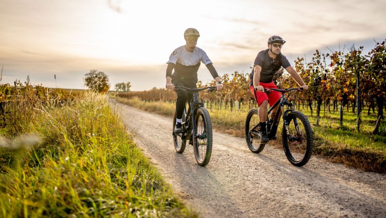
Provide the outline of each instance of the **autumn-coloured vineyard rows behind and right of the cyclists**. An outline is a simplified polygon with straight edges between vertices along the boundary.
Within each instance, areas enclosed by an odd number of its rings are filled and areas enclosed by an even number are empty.
[[[312,110],[312,103],[316,103],[316,113],[319,116],[322,103],[327,105],[329,111],[333,107],[335,112],[341,109],[353,112],[359,109],[358,114],[368,104],[370,109],[376,107],[377,120],[383,119],[383,110],[386,100],[386,42],[376,42],[374,48],[363,54],[363,46],[331,53],[323,54],[316,50],[310,60],[305,57],[297,57],[294,68],[301,75],[304,82],[310,87],[308,91],[293,96],[292,101],[298,106],[306,104]],[[221,80],[224,89],[220,93],[204,93],[201,99],[219,103],[230,108],[235,103],[256,107],[253,96],[249,91],[249,72],[233,72],[231,75],[224,74]],[[298,85],[290,77],[290,74],[281,69],[274,77],[274,82],[279,88],[297,87]],[[202,84],[198,87],[214,86],[215,81]],[[176,94],[165,88],[153,88],[148,91],[130,92],[120,94],[125,98],[139,98],[145,101],[175,101]],[[359,105],[358,105],[359,103]],[[360,116],[359,116],[360,119]],[[360,123],[360,120],[358,120]],[[359,125],[358,123],[358,125]]]

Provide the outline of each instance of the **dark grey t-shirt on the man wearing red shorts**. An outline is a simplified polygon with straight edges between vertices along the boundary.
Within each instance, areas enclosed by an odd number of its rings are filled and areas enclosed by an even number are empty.
[[[272,79],[274,77],[274,74],[276,71],[280,69],[280,67],[287,68],[291,64],[288,61],[287,57],[284,56],[283,54],[277,55],[276,58],[282,58],[281,65],[278,65],[274,62],[274,59],[272,59],[269,54],[268,54],[269,49],[263,50],[257,54],[255,62],[253,64],[253,68],[256,65],[261,66],[261,72],[260,72],[260,82],[263,83],[270,83],[272,82]],[[275,58],[275,59],[276,59]],[[254,70],[252,69],[252,72],[249,74],[249,85],[253,86],[253,73]]]

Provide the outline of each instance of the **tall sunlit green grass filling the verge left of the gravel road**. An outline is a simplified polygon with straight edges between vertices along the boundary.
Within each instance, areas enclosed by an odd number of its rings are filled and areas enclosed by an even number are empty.
[[[36,109],[0,140],[0,217],[196,217],[103,96]]]

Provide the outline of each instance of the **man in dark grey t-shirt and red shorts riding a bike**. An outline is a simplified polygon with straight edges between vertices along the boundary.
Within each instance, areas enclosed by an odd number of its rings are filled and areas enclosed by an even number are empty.
[[[268,49],[263,50],[257,54],[253,70],[249,74],[249,89],[252,92],[257,105],[259,106],[259,120],[261,129],[261,143],[267,143],[269,141],[266,132],[268,103],[272,107],[281,97],[280,93],[273,91],[270,94],[264,92],[264,88],[278,88],[273,82],[273,77],[281,67],[290,73],[292,78],[301,86],[304,90],[308,89],[300,75],[291,67],[287,57],[281,53],[281,49],[286,43],[280,36],[271,36],[268,39]],[[274,118],[276,109],[272,110],[271,119]],[[275,138],[275,137],[274,137]]]

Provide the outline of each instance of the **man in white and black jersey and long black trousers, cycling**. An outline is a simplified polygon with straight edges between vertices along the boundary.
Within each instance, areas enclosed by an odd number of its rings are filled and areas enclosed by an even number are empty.
[[[208,68],[210,74],[216,80],[216,89],[221,90],[220,77],[213,66],[212,61],[206,53],[196,47],[197,40],[200,34],[194,28],[185,30],[184,38],[186,45],[178,47],[170,54],[168,66],[166,68],[166,88],[174,90],[174,86],[184,86],[189,88],[196,88],[198,82],[197,71],[202,62]],[[174,72],[173,72],[174,69]],[[182,133],[181,119],[184,112],[185,104],[190,102],[193,95],[187,92],[178,90],[176,101],[176,126],[175,133]]]

